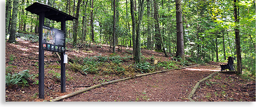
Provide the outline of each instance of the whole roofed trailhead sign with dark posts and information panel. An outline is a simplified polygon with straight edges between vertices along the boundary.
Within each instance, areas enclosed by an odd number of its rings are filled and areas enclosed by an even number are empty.
[[[39,15],[39,98],[44,99],[44,51],[61,52],[61,92],[66,92],[66,75],[65,75],[65,46],[66,46],[66,21],[77,19],[49,5],[33,3],[25,10]],[[45,26],[45,18],[61,22],[61,30]],[[67,62],[67,61],[66,61]]]

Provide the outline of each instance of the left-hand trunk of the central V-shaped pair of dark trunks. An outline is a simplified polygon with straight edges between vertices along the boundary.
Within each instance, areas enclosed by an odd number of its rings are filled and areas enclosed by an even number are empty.
[[[131,16],[132,16],[132,40],[133,40],[133,58],[135,57],[135,50],[136,50],[136,20],[134,15],[134,2],[130,0],[131,5]]]

